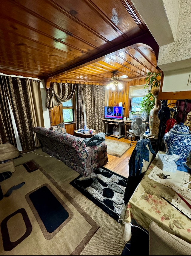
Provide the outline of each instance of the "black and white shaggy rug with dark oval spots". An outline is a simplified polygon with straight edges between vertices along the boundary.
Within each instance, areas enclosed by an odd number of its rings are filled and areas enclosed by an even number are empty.
[[[125,206],[123,197],[127,178],[101,167],[90,177],[78,176],[70,184],[118,221]]]

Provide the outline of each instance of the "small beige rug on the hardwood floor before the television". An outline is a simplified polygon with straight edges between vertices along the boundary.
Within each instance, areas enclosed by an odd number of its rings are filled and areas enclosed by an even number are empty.
[[[110,139],[105,139],[105,144],[107,145],[107,154],[121,157],[128,149],[130,149],[130,144],[120,142],[120,141],[113,141]]]

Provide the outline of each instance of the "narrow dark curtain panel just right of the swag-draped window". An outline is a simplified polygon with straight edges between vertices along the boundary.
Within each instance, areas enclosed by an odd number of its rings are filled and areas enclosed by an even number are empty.
[[[84,127],[83,85],[76,84],[76,129]]]

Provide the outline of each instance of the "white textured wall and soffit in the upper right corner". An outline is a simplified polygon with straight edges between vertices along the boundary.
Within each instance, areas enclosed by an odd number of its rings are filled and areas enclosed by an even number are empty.
[[[191,0],[132,0],[157,41],[162,92],[190,91]]]

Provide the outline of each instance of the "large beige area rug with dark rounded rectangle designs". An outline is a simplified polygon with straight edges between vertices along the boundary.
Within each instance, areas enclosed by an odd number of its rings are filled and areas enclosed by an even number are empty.
[[[34,160],[0,185],[0,255],[79,255],[99,228]]]

